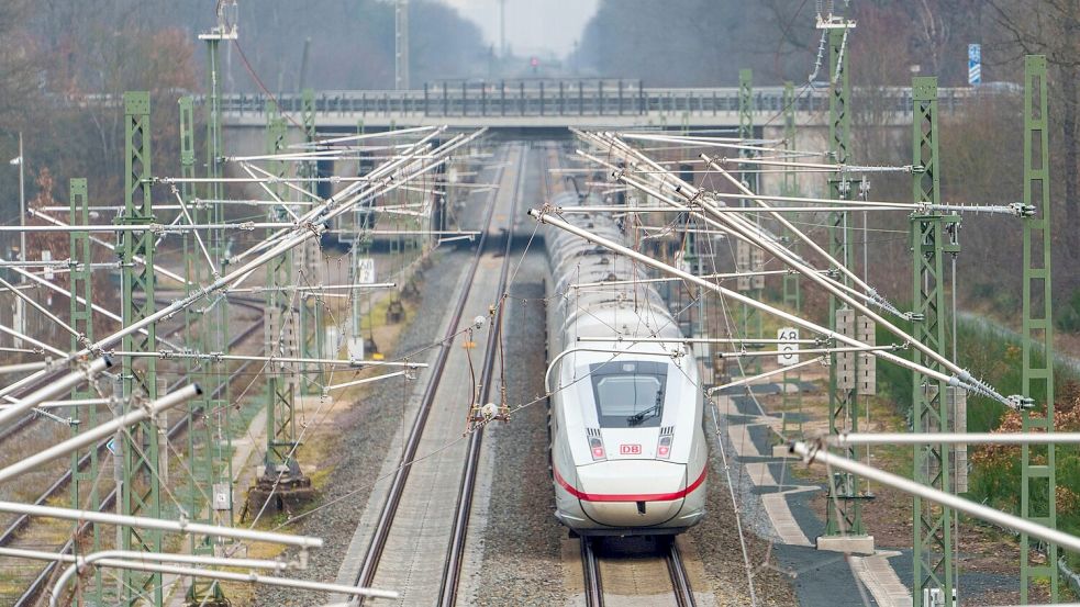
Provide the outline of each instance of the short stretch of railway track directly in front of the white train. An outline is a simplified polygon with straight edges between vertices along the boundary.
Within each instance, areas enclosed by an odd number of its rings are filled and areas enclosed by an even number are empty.
[[[657,605],[663,598],[657,594],[664,571],[671,587],[671,597],[677,607],[695,607],[693,588],[690,576],[682,561],[675,538],[657,537],[656,546],[650,553],[616,554],[605,557],[598,554],[597,539],[581,538],[581,567],[584,580],[584,598],[588,607],[603,607],[605,599],[612,604]],[[608,569],[608,575],[602,571]],[[610,591],[604,591],[603,580],[614,580]],[[644,591],[644,592],[643,592]]]

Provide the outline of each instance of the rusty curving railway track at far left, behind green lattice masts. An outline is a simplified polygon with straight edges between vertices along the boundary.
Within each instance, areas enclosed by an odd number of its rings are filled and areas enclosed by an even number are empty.
[[[261,313],[260,304],[255,300],[236,299],[233,300],[233,303],[236,303],[237,305],[249,310],[257,310],[259,313]],[[229,347],[233,348],[237,346],[238,344],[243,342],[245,339],[249,338],[253,334],[261,329],[261,327],[263,327],[263,319],[260,316],[257,321],[252,323],[250,326],[244,329],[240,335],[234,337],[230,341]],[[182,328],[183,327],[179,327],[175,330],[171,330],[169,335],[176,335],[177,333],[182,330]],[[232,373],[230,373],[225,383],[214,389],[213,393],[211,394],[211,397],[216,397],[218,394],[220,394],[221,391],[224,390],[227,384],[231,384],[236,378],[241,376],[252,364],[253,361],[242,362]],[[183,380],[180,380],[174,383],[172,385],[169,385],[168,391],[179,387],[181,383],[183,383]],[[199,411],[200,409],[196,409],[196,413],[198,414]],[[178,440],[188,430],[188,418],[189,417],[187,415],[182,416],[176,424],[169,427],[169,429],[166,432],[166,436],[170,441]],[[33,420],[34,417],[31,416],[31,421]],[[98,451],[99,457],[103,456],[107,449],[105,442],[99,443],[96,449]],[[78,461],[79,471],[81,472],[89,464],[90,464],[90,454],[85,453]],[[38,495],[38,497],[34,501],[34,504],[43,505],[48,503],[51,499],[58,497],[60,495],[60,492],[63,492],[70,484],[70,482],[71,482],[71,469],[70,467],[67,467],[59,474],[59,476],[53,483],[51,483],[48,487],[46,487],[45,491],[42,492],[41,495]],[[101,508],[105,509],[105,508],[113,507],[115,505],[115,499],[116,499],[116,490],[115,487],[113,487],[102,498]],[[3,532],[0,532],[0,547],[7,547],[20,540],[29,540],[31,542],[35,542],[32,533],[22,533],[22,531],[26,529],[30,524],[31,524],[31,517],[26,515],[20,515],[19,517],[16,517],[11,524],[8,525],[8,527],[3,530]],[[83,524],[79,527],[78,532],[75,533],[75,536],[81,537],[82,535],[85,535],[85,532],[88,529],[89,529],[89,525]],[[27,536],[27,537],[23,538],[23,536]],[[33,546],[35,548],[41,548],[42,543],[37,541],[36,543],[33,543]],[[65,553],[65,554],[69,553],[74,548],[74,539],[68,538],[63,544],[54,544],[51,548],[55,549],[57,552],[60,553]],[[52,576],[55,567],[56,567],[55,562],[47,563],[34,576],[33,581],[26,586],[26,588],[22,592],[21,595],[19,595],[18,597],[14,596],[7,597],[7,598],[14,599],[13,603],[11,603],[11,605],[13,607],[30,607],[34,605],[41,592],[44,589],[45,584],[48,582],[49,577]],[[2,594],[0,594],[0,598],[4,598]]]

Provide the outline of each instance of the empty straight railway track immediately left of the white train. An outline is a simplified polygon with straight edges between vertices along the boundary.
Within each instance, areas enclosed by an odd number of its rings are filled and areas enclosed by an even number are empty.
[[[517,165],[524,166],[525,162],[525,150],[522,148]],[[523,171],[520,171],[523,173]],[[500,170],[500,181],[504,178],[505,171]],[[520,187],[521,177],[519,176],[517,182]],[[514,190],[514,199],[517,198],[517,190]],[[431,599],[438,603],[439,605],[454,605],[457,595],[457,588],[460,580],[460,571],[463,565],[463,557],[465,551],[465,544],[467,539],[468,530],[468,519],[469,513],[472,505],[472,488],[477,475],[477,464],[479,461],[480,453],[480,441],[482,440],[479,432],[474,432],[470,435],[467,445],[465,446],[464,463],[461,468],[460,480],[454,484],[454,488],[448,488],[446,483],[457,480],[453,472],[447,471],[447,474],[438,474],[436,470],[425,469],[422,471],[421,479],[413,480],[410,482],[412,464],[411,462],[416,458],[420,452],[420,446],[422,442],[427,442],[432,448],[436,445],[443,446],[452,436],[459,435],[448,435],[447,429],[443,427],[446,421],[453,416],[454,419],[459,419],[461,411],[457,406],[460,405],[460,400],[464,395],[459,394],[463,385],[469,385],[468,381],[456,382],[443,382],[444,375],[447,375],[447,363],[450,361],[450,353],[454,349],[453,337],[459,331],[461,326],[461,319],[465,316],[465,311],[469,308],[469,303],[472,303],[472,308],[478,308],[479,303],[483,304],[485,311],[487,311],[487,304],[493,301],[489,293],[480,293],[478,289],[474,289],[476,282],[478,282],[478,276],[481,276],[481,269],[483,269],[482,276],[490,276],[488,271],[490,270],[491,259],[487,258],[486,254],[490,252],[490,238],[491,231],[494,225],[496,210],[499,205],[499,196],[496,194],[490,206],[488,207],[485,220],[483,220],[483,231],[480,237],[477,250],[471,258],[470,265],[466,271],[465,281],[460,290],[458,300],[455,302],[449,324],[447,325],[444,339],[439,346],[438,352],[436,355],[435,362],[432,364],[431,376],[427,385],[425,386],[424,393],[420,400],[419,409],[416,412],[415,418],[412,426],[408,431],[408,438],[404,440],[404,448],[401,452],[400,459],[398,461],[398,467],[394,470],[393,477],[382,507],[379,512],[378,519],[374,524],[374,529],[371,531],[370,541],[368,543],[367,551],[363,559],[363,564],[359,567],[359,572],[354,578],[354,583],[360,586],[371,586],[377,583],[383,583],[388,586],[396,586],[394,582],[400,578],[407,578],[410,583],[415,583],[417,586],[423,586],[423,591],[416,592],[430,592],[432,593]],[[511,203],[513,206],[513,202]],[[509,221],[511,223],[508,229],[508,240],[506,248],[503,251],[503,258],[500,263],[498,284],[496,285],[497,297],[505,291],[505,281],[509,272],[509,246],[511,245],[511,232],[513,222],[513,211],[509,215]],[[490,280],[490,279],[487,279]],[[496,311],[496,318],[493,323],[499,322],[500,314],[498,308]],[[489,327],[488,329],[488,340],[485,350],[485,359],[481,363],[480,383],[481,387],[481,402],[487,402],[488,394],[493,383],[494,376],[494,360],[496,352],[498,350],[499,340],[499,329],[498,325]],[[463,366],[461,359],[456,359],[455,362],[459,368]],[[470,362],[471,364],[471,362]],[[458,371],[464,371],[464,369],[458,369]],[[467,376],[467,375],[466,375]],[[441,390],[441,386],[445,390]],[[469,394],[466,398],[467,404],[471,404],[472,394]],[[431,418],[433,415],[433,409],[436,407],[436,401],[439,400],[455,400],[455,403],[442,403],[443,407],[436,412],[438,419],[433,424]],[[425,437],[425,430],[428,430],[428,436]],[[453,431],[453,430],[449,430]],[[439,432],[444,432],[443,436],[434,436]],[[456,453],[452,454],[449,452],[443,453],[441,459],[445,458],[447,461],[456,462]],[[436,464],[432,464],[434,468]],[[412,486],[410,486],[412,485]],[[431,506],[433,504],[433,495],[449,497],[456,493],[455,498],[455,509],[454,515],[450,520],[443,522],[437,520],[438,516],[431,516]],[[407,497],[411,494],[412,499]],[[404,505],[404,506],[403,506]],[[408,507],[405,507],[408,506]],[[408,509],[409,513],[402,515],[402,510]],[[391,542],[391,536],[394,533],[394,526],[398,525],[400,536],[399,541],[394,543],[394,554],[393,563],[389,566],[386,565],[386,553],[388,546]],[[412,541],[412,546],[402,546],[407,541]],[[421,543],[423,542],[423,543]],[[428,543],[430,542],[430,543]],[[433,578],[431,573],[426,572],[417,573],[427,575],[423,581],[414,580],[411,576],[415,572],[420,572],[425,569],[416,563],[416,553],[423,551],[425,548],[431,547],[432,550],[445,551],[445,560],[439,560],[441,564],[435,565],[436,571],[441,574],[437,578]],[[441,553],[442,554],[442,553]],[[380,565],[383,565],[380,567]],[[382,581],[377,582],[377,577],[381,578],[385,576],[397,576],[394,582]],[[398,583],[397,587],[401,587]],[[412,599],[410,597],[403,597],[407,603]],[[425,600],[426,602],[426,600]]]

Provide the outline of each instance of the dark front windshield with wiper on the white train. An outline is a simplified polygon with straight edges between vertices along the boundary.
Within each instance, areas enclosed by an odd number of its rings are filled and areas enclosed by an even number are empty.
[[[589,366],[601,428],[653,428],[664,414],[668,366],[621,361]]]

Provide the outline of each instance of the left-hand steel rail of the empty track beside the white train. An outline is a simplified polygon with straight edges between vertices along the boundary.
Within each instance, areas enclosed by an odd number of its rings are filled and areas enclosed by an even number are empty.
[[[461,323],[461,316],[465,314],[465,305],[469,299],[469,292],[472,290],[472,283],[476,279],[477,270],[480,267],[480,259],[483,257],[483,251],[488,240],[488,233],[491,229],[491,223],[494,218],[494,209],[496,204],[494,200],[492,200],[483,222],[483,233],[480,235],[476,254],[474,254],[472,261],[469,265],[465,286],[461,289],[461,294],[454,306],[450,323],[446,327],[446,333],[443,335],[443,340],[438,347],[438,355],[435,358],[435,362],[431,367],[431,380],[427,383],[427,387],[424,389],[424,394],[420,400],[420,408],[416,412],[416,417],[409,429],[409,438],[405,441],[404,450],[401,453],[398,469],[394,471],[393,479],[390,482],[390,490],[387,494],[387,501],[382,505],[382,510],[379,513],[379,519],[376,522],[375,530],[371,533],[371,541],[368,544],[367,552],[364,555],[364,564],[360,567],[360,572],[354,580],[354,585],[356,586],[370,587],[375,581],[375,574],[379,569],[379,562],[382,559],[382,551],[386,549],[387,540],[390,537],[390,529],[393,526],[393,519],[398,513],[398,506],[400,505],[401,497],[404,494],[405,483],[409,480],[409,472],[412,468],[412,461],[415,459],[416,450],[420,448],[420,439],[424,434],[425,426],[427,425],[427,417],[435,402],[435,394],[438,392],[438,385],[443,379],[443,371],[446,368],[446,360],[449,358],[450,350],[453,349],[450,344],[454,336],[458,331],[458,326]]]

